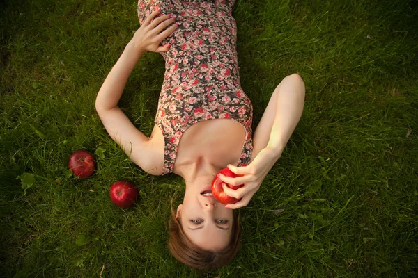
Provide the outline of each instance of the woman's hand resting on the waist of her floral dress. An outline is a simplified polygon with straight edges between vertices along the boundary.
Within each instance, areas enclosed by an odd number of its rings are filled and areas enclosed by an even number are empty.
[[[141,52],[141,54],[146,51],[169,51],[171,47],[171,44],[160,46],[160,43],[176,31],[178,24],[172,24],[175,21],[174,15],[162,15],[160,17],[156,17],[160,11],[161,10],[155,10],[153,13],[148,15],[148,17],[144,20],[144,23],[135,32],[134,37],[130,41],[130,43],[134,45],[134,48]],[[169,26],[170,24],[172,25]],[[167,26],[169,26],[169,28],[164,30]]]

